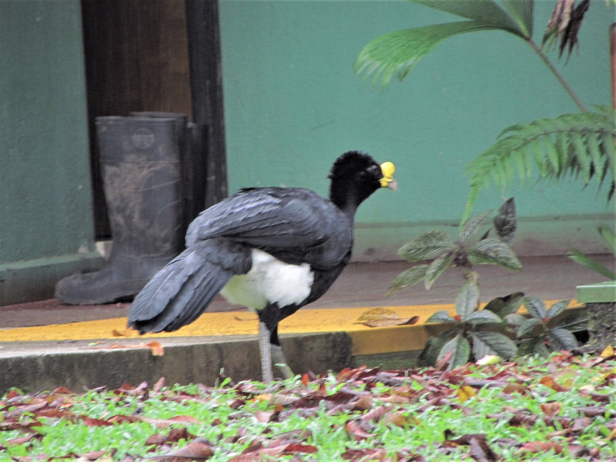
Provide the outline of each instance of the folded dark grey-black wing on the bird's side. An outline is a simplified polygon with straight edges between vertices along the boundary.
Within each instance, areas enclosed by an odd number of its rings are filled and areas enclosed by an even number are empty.
[[[288,263],[338,264],[352,244],[349,220],[330,201],[302,188],[255,188],[207,209],[188,227],[187,246],[224,237]]]

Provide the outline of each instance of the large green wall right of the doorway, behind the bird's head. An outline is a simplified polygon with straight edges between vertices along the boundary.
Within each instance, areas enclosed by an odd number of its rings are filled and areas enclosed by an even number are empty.
[[[537,41],[553,6],[535,2]],[[352,64],[371,39],[458,20],[410,2],[220,0],[220,15],[230,192],[301,185],[325,194],[330,164],[346,150],[393,161],[399,192],[377,192],[360,208],[360,259],[392,257],[434,226],[453,232],[468,161],[511,124],[577,111],[530,47],[500,31],[448,39],[385,91],[363,82]],[[592,0],[579,54],[557,65],[588,106],[610,102],[612,15]],[[614,211],[605,192],[568,181],[486,190],[476,211],[515,196],[520,254],[604,251],[596,225]]]

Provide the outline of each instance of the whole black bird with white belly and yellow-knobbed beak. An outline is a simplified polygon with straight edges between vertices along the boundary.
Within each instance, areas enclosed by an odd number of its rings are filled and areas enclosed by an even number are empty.
[[[380,187],[395,190],[394,164],[351,151],[333,164],[330,199],[304,188],[245,188],[201,212],[186,249],[137,294],[128,325],[140,333],[193,322],[221,293],[259,316],[265,382],[286,365],[278,322],[322,296],[351,259],[355,211]],[[285,377],[290,376],[283,368]]]

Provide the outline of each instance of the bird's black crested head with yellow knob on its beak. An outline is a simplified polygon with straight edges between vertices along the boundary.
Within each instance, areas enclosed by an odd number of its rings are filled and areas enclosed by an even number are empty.
[[[398,184],[393,176],[394,171],[391,162],[379,165],[367,154],[346,152],[336,159],[331,168],[330,199],[341,209],[349,206],[356,209],[381,187],[396,190]]]

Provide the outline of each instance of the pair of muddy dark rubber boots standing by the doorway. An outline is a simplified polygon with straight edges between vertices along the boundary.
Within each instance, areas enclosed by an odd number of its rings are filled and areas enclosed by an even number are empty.
[[[169,113],[99,117],[96,126],[113,244],[102,269],[57,283],[55,298],[67,304],[134,298],[184,249],[205,203],[201,126]]]

